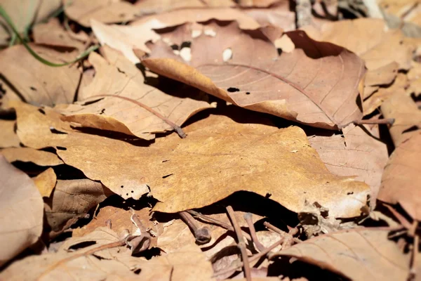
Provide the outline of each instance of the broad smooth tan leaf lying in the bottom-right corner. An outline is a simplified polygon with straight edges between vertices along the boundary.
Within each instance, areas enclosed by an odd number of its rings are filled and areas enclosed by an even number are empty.
[[[293,256],[350,280],[406,280],[410,255],[388,240],[389,230],[356,228],[314,237],[270,256]]]

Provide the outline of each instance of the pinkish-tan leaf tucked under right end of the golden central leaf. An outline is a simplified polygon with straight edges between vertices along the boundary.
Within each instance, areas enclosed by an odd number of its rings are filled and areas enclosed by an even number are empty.
[[[370,185],[370,203],[374,207],[388,154],[385,143],[377,139],[378,127],[363,128],[350,124],[342,129],[342,135],[311,136],[309,142],[330,173],[356,176],[357,181]]]

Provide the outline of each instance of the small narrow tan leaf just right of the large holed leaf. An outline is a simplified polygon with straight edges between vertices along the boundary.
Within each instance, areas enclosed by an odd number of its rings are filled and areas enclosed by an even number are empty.
[[[408,78],[405,74],[399,73],[394,79],[392,85],[387,88],[379,88],[373,95],[368,97],[363,102],[363,112],[364,115],[370,115],[380,107],[382,103],[387,100],[392,95],[404,96],[406,93],[406,88],[408,87]]]

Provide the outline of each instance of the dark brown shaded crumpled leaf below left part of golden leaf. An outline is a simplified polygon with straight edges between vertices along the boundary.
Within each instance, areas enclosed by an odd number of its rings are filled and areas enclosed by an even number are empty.
[[[72,226],[79,218],[104,201],[112,192],[88,179],[58,180],[53,195],[45,198],[46,221],[54,233]]]

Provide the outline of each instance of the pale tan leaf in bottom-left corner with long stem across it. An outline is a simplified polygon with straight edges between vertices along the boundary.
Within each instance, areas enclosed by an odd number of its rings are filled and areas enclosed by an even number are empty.
[[[77,251],[67,251],[70,246],[83,245],[83,242],[96,242],[93,245],[82,247]],[[74,280],[75,276],[89,277],[89,280],[139,280],[131,270],[131,264],[141,261],[141,258],[127,256],[127,251],[112,251],[105,249],[95,252],[95,256],[78,255],[95,247],[119,241],[118,235],[107,228],[98,228],[95,233],[85,237],[76,237],[67,240],[57,253],[27,256],[25,259],[15,261],[0,273],[4,280]],[[123,248],[121,248],[123,249]],[[112,254],[109,254],[112,251]],[[101,256],[98,259],[96,256]],[[111,257],[110,257],[111,256]],[[119,259],[121,258],[121,259]],[[58,264],[59,263],[59,264]]]

